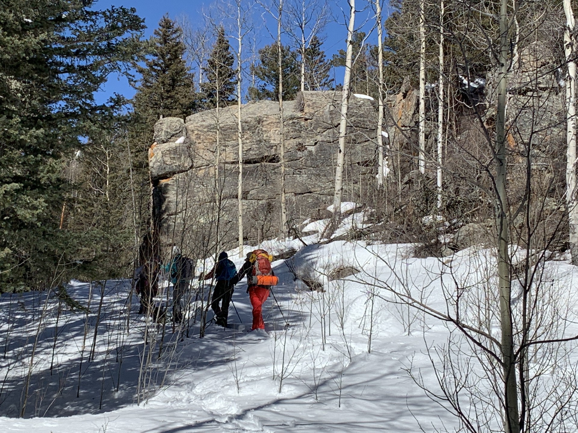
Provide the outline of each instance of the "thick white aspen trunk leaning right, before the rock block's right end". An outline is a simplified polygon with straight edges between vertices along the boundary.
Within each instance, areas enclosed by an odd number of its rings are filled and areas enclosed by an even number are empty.
[[[343,193],[343,166],[345,163],[345,139],[347,133],[347,106],[351,78],[351,59],[353,58],[353,31],[355,29],[355,0],[349,0],[349,26],[347,27],[347,50],[345,55],[345,74],[343,76],[343,93],[341,96],[341,118],[339,121],[339,152],[335,167],[335,193],[333,199],[333,217],[330,234],[337,228],[341,218],[341,197]]]

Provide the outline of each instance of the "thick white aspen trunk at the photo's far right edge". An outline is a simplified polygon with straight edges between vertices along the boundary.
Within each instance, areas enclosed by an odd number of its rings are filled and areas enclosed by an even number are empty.
[[[576,40],[573,35],[576,21],[570,0],[564,0],[566,28],[564,55],[566,57],[566,204],[568,205],[569,245],[572,264],[578,264],[578,201],[576,200]]]

